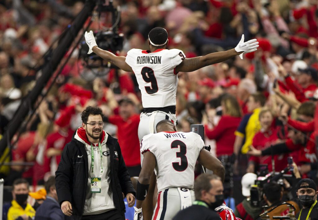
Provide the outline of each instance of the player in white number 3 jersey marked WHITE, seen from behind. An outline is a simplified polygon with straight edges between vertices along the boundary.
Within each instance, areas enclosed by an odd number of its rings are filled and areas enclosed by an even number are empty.
[[[178,211],[189,207],[195,200],[194,167],[197,160],[224,179],[222,163],[204,149],[200,135],[194,132],[177,132],[175,125],[169,120],[159,122],[157,131],[156,134],[144,136],[141,142],[144,159],[137,182],[135,220],[142,215],[142,202],[154,169],[158,198],[153,220],[172,219]]]

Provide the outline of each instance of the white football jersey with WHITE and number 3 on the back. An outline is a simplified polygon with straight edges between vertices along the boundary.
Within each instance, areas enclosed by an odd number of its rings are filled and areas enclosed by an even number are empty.
[[[141,141],[141,153],[156,157],[158,192],[172,187],[194,188],[194,167],[204,148],[201,136],[194,132],[159,132]]]

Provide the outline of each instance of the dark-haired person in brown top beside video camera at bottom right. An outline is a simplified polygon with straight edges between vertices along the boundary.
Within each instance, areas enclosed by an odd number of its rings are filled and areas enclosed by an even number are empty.
[[[264,184],[263,187],[263,199],[268,205],[268,209],[270,210],[275,206],[280,205],[284,201],[282,201],[283,197],[283,188],[280,184],[271,181],[266,184]],[[295,207],[295,213],[299,212],[299,206],[294,201],[287,201],[288,203],[292,204]],[[266,210],[266,211],[267,211]],[[273,209],[273,211],[267,213],[268,216],[270,216],[271,219],[273,219],[273,216],[286,216],[289,213],[289,207],[284,204],[280,205],[277,208]]]

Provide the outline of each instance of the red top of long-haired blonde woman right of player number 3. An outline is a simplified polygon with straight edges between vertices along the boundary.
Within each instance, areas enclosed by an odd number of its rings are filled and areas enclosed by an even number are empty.
[[[240,117],[223,115],[218,125],[215,126],[212,130],[205,126],[206,136],[209,139],[216,140],[217,156],[232,155],[235,141],[234,132],[239,126],[240,121]]]

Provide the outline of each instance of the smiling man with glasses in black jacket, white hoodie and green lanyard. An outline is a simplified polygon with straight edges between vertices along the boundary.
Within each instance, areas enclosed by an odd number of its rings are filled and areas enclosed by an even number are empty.
[[[72,220],[125,219],[122,193],[132,207],[135,189],[118,141],[102,130],[100,108],[88,106],[81,117],[55,173],[61,209]]]

